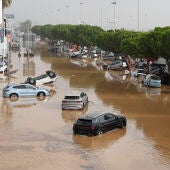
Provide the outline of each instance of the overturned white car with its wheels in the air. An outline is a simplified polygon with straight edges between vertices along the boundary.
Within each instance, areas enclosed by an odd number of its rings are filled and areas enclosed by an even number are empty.
[[[28,77],[24,83],[29,83],[32,85],[42,85],[42,84],[49,84],[54,83],[57,80],[57,74],[53,71],[46,71],[45,74],[42,74],[37,77]]]

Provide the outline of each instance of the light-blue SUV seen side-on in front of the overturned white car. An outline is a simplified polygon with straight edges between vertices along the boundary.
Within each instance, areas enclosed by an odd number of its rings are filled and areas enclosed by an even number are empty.
[[[35,87],[30,84],[11,84],[3,89],[3,97],[9,97],[12,100],[18,100],[19,97],[36,96],[44,98],[49,96],[50,91],[43,87]]]

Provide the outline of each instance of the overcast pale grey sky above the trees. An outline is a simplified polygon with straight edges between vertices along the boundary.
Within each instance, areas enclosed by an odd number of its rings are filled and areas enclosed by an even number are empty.
[[[33,25],[79,24],[81,19],[89,25],[97,25],[103,29],[112,29],[113,21],[116,29],[139,28],[145,31],[157,26],[170,26],[170,0],[12,1],[5,13],[14,14],[16,21],[30,19]],[[116,5],[111,2],[116,2]]]

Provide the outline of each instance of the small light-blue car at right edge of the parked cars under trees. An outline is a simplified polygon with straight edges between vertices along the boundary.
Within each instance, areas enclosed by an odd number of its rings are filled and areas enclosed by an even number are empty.
[[[154,74],[146,75],[143,84],[148,87],[161,87],[161,79],[159,76]]]

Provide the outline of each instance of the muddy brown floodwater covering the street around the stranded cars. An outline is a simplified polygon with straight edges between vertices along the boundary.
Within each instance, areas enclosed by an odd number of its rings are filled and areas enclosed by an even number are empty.
[[[169,170],[170,87],[145,88],[131,77],[103,71],[95,61],[37,54],[27,59],[12,53],[18,69],[9,80],[0,79],[0,95],[8,83],[28,76],[58,73],[45,86],[52,96],[11,102],[0,97],[0,170]],[[81,88],[90,102],[82,111],[62,111],[61,100]],[[125,129],[102,136],[74,136],[74,121],[87,112],[123,114]]]

